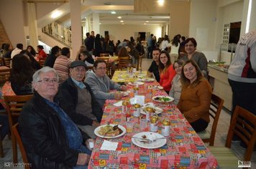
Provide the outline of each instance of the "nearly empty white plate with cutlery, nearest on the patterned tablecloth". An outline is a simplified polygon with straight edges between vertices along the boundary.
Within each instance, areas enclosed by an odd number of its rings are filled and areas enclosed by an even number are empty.
[[[158,139],[153,141],[152,143],[143,143],[143,142],[140,142],[141,141],[140,139],[138,139],[138,138],[142,138],[142,135],[146,135],[148,139],[152,137],[154,137],[155,139],[163,137],[163,135],[160,135],[157,132],[139,132],[136,135],[132,136],[132,143],[134,143],[134,145],[139,146],[140,148],[147,148],[147,149],[160,148],[163,145],[165,145],[167,141],[166,139]],[[133,137],[138,137],[138,138],[133,138]]]

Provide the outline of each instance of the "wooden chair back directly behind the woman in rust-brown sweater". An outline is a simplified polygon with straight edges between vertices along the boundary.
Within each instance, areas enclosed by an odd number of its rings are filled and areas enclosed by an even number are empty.
[[[214,122],[211,127],[211,136],[209,139],[209,145],[214,145],[216,128],[219,122],[219,115],[221,114],[223,103],[224,103],[223,99],[221,99],[220,97],[214,94],[211,94],[211,105],[210,105],[209,114],[210,114],[210,117],[214,119]]]

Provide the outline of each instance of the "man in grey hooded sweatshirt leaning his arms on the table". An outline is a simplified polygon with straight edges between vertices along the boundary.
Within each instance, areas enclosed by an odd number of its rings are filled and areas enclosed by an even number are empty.
[[[93,71],[86,72],[86,83],[89,84],[93,94],[98,100],[101,108],[104,106],[105,100],[120,100],[122,94],[120,92],[111,92],[110,90],[126,91],[125,85],[120,85],[106,75],[106,62],[98,59],[93,64]]]

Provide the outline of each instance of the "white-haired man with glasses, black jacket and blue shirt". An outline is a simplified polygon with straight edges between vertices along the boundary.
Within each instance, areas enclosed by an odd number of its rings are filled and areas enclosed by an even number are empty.
[[[43,67],[33,75],[35,95],[19,116],[19,131],[31,168],[87,168],[89,139],[58,105],[58,74]]]

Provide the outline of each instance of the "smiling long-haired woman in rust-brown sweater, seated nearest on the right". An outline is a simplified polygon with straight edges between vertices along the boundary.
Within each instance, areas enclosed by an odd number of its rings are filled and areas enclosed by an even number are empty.
[[[193,129],[201,132],[210,122],[211,84],[193,59],[183,64],[180,80],[183,88],[177,107]]]

